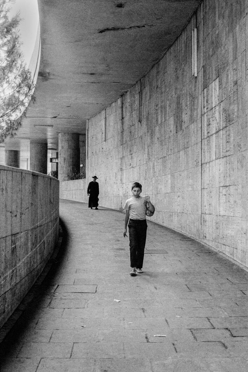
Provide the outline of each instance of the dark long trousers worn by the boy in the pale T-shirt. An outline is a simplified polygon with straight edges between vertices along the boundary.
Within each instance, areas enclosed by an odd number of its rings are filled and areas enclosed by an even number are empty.
[[[147,230],[146,219],[129,219],[128,229],[131,267],[142,269]]]

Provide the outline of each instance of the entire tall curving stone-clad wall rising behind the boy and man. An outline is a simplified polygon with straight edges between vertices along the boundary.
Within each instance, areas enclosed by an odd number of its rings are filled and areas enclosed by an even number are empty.
[[[245,0],[204,0],[161,61],[106,109],[106,141],[105,110],[88,121],[86,138],[87,182],[99,177],[100,205],[122,209],[139,181],[153,221],[246,266],[247,12]]]

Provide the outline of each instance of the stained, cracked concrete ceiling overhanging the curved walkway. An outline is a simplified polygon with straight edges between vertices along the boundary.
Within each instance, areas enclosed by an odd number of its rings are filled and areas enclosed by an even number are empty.
[[[36,103],[19,138],[58,148],[144,76],[180,35],[200,0],[38,0],[41,63]]]

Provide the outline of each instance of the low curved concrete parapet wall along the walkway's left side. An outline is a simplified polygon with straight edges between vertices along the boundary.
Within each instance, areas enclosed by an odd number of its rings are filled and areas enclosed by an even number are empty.
[[[0,327],[38,278],[58,239],[59,182],[0,166]]]

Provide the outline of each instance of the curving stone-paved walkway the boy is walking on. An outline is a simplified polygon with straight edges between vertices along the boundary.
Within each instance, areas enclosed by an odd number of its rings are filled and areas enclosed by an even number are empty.
[[[60,212],[66,247],[1,372],[248,371],[245,270],[148,221],[144,274],[131,277],[124,214]]]

